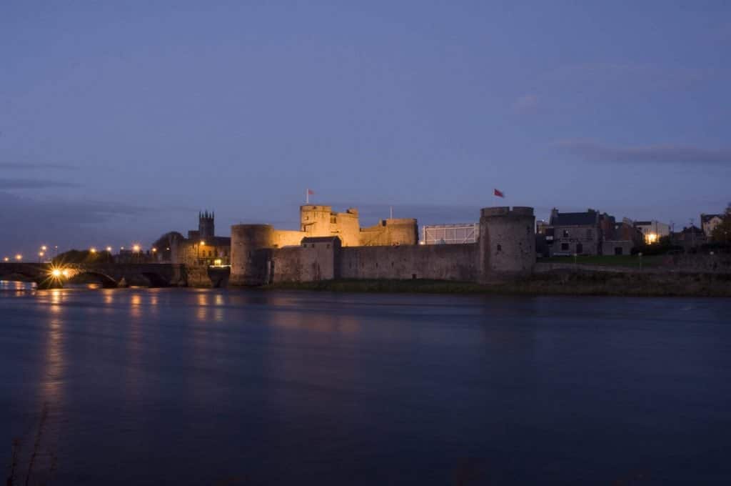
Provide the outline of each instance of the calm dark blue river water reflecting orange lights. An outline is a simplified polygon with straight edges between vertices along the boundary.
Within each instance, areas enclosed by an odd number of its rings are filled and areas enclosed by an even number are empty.
[[[731,484],[730,399],[729,299],[0,285],[19,485]]]

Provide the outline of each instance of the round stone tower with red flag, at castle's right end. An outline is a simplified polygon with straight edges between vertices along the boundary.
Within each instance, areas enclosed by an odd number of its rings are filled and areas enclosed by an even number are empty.
[[[533,208],[482,208],[479,261],[482,282],[533,272],[536,263],[535,224]]]

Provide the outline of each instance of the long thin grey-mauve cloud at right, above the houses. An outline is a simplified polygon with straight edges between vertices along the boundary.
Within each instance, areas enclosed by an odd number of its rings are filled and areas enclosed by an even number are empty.
[[[676,145],[620,147],[586,140],[558,141],[553,145],[591,162],[731,164],[731,149]]]

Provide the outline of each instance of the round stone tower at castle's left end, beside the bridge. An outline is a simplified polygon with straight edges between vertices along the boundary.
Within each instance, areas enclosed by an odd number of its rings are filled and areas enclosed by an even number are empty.
[[[231,226],[231,277],[233,285],[265,283],[269,255],[273,247],[274,228],[271,225]]]

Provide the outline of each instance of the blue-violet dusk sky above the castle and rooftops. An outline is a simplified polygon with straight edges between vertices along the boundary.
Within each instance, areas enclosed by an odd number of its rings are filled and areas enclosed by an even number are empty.
[[[307,187],[363,225],[698,224],[731,201],[731,2],[601,3],[5,0],[0,253],[296,228]]]

